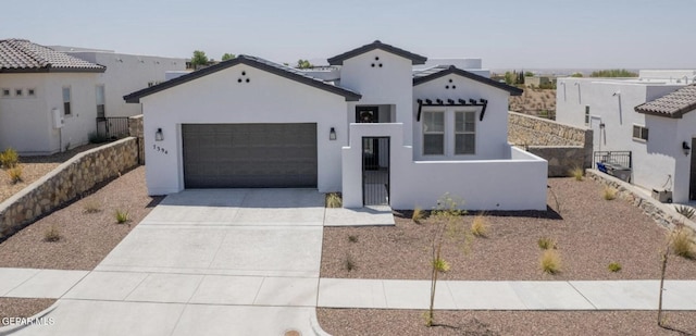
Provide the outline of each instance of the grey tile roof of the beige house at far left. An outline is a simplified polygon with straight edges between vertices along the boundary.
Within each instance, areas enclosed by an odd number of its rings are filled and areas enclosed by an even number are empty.
[[[0,40],[0,73],[104,72],[105,70],[105,66],[26,39]]]

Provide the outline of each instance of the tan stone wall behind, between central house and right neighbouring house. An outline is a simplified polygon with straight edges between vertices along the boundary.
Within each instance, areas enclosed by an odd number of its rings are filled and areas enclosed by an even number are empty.
[[[548,176],[592,167],[593,132],[527,114],[508,113],[508,141],[548,161]]]

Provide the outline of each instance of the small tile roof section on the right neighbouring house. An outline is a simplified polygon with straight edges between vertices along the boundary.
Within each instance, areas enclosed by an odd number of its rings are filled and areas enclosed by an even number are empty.
[[[696,110],[696,84],[635,107],[638,113],[673,119],[680,119],[684,113],[694,110]]]

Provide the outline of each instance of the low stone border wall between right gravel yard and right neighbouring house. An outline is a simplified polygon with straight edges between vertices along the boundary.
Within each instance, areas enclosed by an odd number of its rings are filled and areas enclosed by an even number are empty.
[[[671,206],[662,204],[658,200],[641,194],[635,189],[636,187],[634,185],[601,173],[597,170],[586,170],[585,176],[617,189],[617,199],[622,199],[633,207],[639,208],[656,223],[667,228],[671,229],[674,228],[676,224],[683,223],[696,231],[696,223],[694,223],[694,221],[679,214]]]

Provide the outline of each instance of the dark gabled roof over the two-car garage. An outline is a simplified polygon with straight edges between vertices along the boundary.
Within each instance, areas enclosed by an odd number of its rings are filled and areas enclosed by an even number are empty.
[[[297,70],[297,69],[293,69],[289,66],[285,66],[282,64],[277,64],[261,58],[257,58],[257,57],[250,57],[250,55],[246,55],[246,54],[240,54],[237,55],[236,58],[228,60],[228,61],[223,61],[220,62],[215,65],[212,66],[208,66],[204,69],[201,69],[199,71],[195,71],[190,74],[171,79],[171,80],[166,80],[163,82],[161,84],[158,84],[156,86],[152,87],[148,87],[145,89],[141,89],[139,91],[135,91],[133,94],[126,95],[123,97],[123,99],[126,102],[140,102],[140,98],[146,97],[146,96],[150,96],[152,94],[169,89],[171,87],[177,86],[179,84],[184,84],[200,77],[203,77],[206,75],[212,74],[212,73],[216,73],[219,71],[225,70],[227,67],[237,65],[237,64],[246,64],[262,71],[266,71],[269,73],[278,75],[281,77],[285,77],[291,80],[296,80],[325,91],[330,91],[339,96],[344,96],[346,98],[346,100],[348,101],[357,101],[359,100],[362,96],[356,91],[349,90],[347,88],[340,87],[340,86],[336,86],[330,83],[326,83],[322,79],[319,78],[314,78],[308,74],[304,74],[303,72]]]

